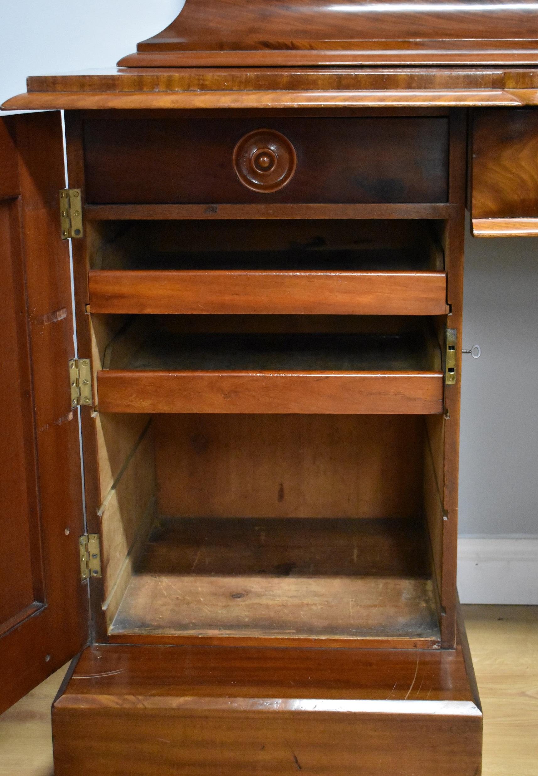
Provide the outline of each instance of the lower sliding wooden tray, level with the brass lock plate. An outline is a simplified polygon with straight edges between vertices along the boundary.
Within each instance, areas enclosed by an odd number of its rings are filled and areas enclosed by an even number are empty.
[[[122,348],[120,347],[121,351]],[[434,414],[439,347],[404,334],[151,335],[97,375],[102,412]]]

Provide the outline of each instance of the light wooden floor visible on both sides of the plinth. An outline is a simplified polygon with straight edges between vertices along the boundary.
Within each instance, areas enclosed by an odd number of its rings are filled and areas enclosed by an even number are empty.
[[[538,776],[538,607],[464,606],[464,617],[485,714],[483,776]],[[53,776],[50,704],[64,672],[0,715],[0,776]]]

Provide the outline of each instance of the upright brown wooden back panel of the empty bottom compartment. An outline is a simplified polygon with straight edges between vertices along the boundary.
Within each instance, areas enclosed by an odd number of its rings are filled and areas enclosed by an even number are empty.
[[[154,431],[160,514],[422,513],[420,416],[159,415]]]

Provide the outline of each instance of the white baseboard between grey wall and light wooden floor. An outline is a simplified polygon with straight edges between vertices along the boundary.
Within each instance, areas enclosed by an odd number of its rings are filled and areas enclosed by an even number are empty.
[[[457,587],[462,604],[538,605],[538,536],[461,536]]]

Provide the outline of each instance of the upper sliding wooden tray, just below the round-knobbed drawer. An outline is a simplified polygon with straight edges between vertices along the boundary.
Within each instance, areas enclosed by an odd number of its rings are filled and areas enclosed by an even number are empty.
[[[423,221],[239,223],[99,224],[91,313],[447,314],[443,248]]]

